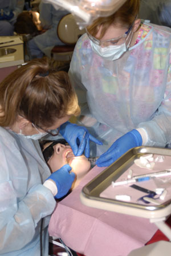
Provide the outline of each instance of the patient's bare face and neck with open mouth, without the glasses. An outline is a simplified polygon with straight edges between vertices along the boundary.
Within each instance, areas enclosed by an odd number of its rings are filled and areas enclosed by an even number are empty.
[[[50,144],[51,143],[46,143],[46,145],[44,145],[44,149],[46,149]],[[47,161],[48,166],[50,166],[51,171],[54,172],[66,164],[70,165],[72,167],[72,171],[76,174],[76,180],[72,186],[73,189],[79,184],[84,175],[88,173],[91,168],[91,163],[84,155],[75,157],[69,145],[57,143],[53,148],[54,153]]]

